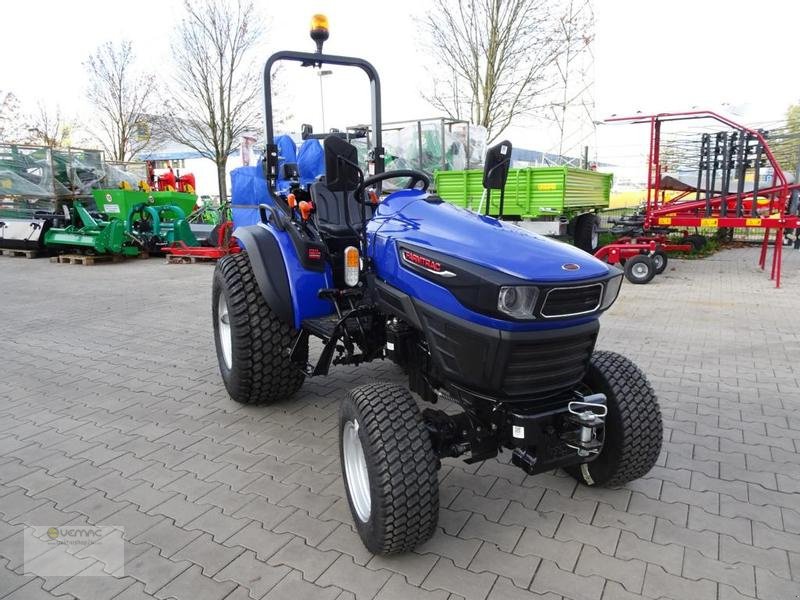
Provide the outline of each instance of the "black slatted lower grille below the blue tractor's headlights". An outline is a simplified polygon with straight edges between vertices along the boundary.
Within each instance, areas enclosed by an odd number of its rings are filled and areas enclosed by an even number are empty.
[[[586,373],[597,329],[553,339],[516,342],[509,352],[503,391],[544,398],[573,389]]]

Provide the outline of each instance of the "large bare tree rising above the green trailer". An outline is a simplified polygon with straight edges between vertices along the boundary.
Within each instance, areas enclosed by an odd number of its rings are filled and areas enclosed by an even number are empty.
[[[434,0],[424,29],[434,74],[430,102],[496,139],[552,87],[563,51],[548,0]],[[437,81],[439,80],[439,81]]]

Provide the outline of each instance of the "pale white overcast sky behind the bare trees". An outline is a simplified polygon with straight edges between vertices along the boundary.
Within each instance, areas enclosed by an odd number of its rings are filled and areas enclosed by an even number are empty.
[[[434,116],[424,100],[428,76],[419,51],[414,15],[425,0],[293,0],[257,3],[267,17],[269,35],[260,49],[266,58],[278,49],[312,50],[310,16],[328,15],[327,52],[361,56],[379,70],[384,120]],[[0,89],[25,103],[43,98],[66,112],[90,118],[84,101],[82,62],[101,43],[127,38],[147,71],[157,80],[170,77],[170,31],[181,17],[180,0],[110,2],[6,2],[0,36]],[[596,116],[692,107],[734,110],[748,123],[777,121],[786,107],[800,101],[795,0],[596,0],[594,46]],[[316,78],[293,79],[290,98],[298,124],[318,124]],[[366,85],[337,88],[325,78],[326,126],[368,120]],[[363,89],[363,95],[359,90]],[[308,112],[314,113],[305,118]],[[363,116],[362,116],[363,115]],[[640,163],[646,149],[643,126],[597,128],[601,161]],[[507,133],[516,146],[553,150],[552,128],[545,122],[520,122]],[[594,152],[593,152],[594,154]]]

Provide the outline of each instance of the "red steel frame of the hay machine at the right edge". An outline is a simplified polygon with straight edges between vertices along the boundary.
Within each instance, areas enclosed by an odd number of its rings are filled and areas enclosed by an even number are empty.
[[[661,172],[662,165],[660,159],[661,152],[661,124],[664,121],[683,121],[690,119],[713,119],[732,129],[747,132],[753,135],[761,142],[764,153],[773,169],[772,185],[768,188],[758,190],[759,198],[766,198],[769,201],[769,213],[766,216],[755,217],[729,217],[723,216],[720,213],[720,206],[726,203],[735,202],[737,194],[720,193],[718,196],[711,198],[710,205],[712,208],[711,214],[706,215],[706,200],[688,200],[684,201],[683,198],[689,192],[684,192],[674,198],[666,200],[662,195],[661,189]],[[671,250],[689,250],[691,246],[686,244],[667,244],[665,236],[648,234],[648,230],[653,227],[704,227],[704,228],[720,228],[720,227],[751,227],[763,228],[764,240],[761,244],[761,255],[759,258],[759,266],[765,268],[767,261],[767,249],[770,244],[770,230],[775,230],[774,249],[772,253],[772,271],[771,279],[775,280],[776,287],[781,285],[781,262],[783,256],[783,232],[785,229],[794,229],[798,227],[797,215],[787,215],[786,210],[789,206],[791,192],[794,189],[800,189],[800,183],[790,185],[778,165],[775,156],[770,150],[766,139],[761,132],[743,125],[739,125],[711,111],[691,111],[680,113],[659,113],[657,115],[636,115],[633,117],[614,117],[607,119],[608,122],[612,121],[627,121],[630,123],[649,123],[650,124],[650,150],[647,166],[647,202],[645,205],[645,221],[644,231],[645,236],[635,239],[621,238],[613,244],[600,248],[595,256],[602,259],[607,259],[609,262],[617,262],[621,258],[629,258],[635,254],[641,253],[643,250],[647,251],[648,248],[657,244],[663,250],[669,252]],[[753,198],[753,192],[745,192],[741,198],[745,202],[756,201]],[[645,242],[645,244],[643,244]],[[646,246],[642,248],[641,246]],[[651,249],[652,251],[652,249]],[[615,260],[616,259],[616,260]]]

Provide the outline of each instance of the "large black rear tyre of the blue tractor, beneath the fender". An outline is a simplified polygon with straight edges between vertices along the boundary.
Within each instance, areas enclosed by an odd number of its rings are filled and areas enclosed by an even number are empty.
[[[228,310],[230,366],[223,357],[220,296]],[[230,397],[241,404],[272,404],[294,395],[305,379],[289,360],[297,332],[270,309],[246,252],[217,262],[211,306],[217,360]]]

